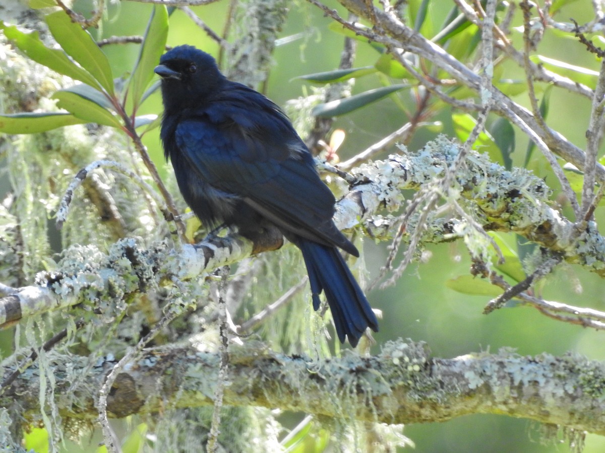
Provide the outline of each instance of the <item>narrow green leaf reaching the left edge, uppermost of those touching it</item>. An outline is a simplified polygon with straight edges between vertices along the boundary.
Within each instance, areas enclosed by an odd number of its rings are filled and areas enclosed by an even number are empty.
[[[38,32],[23,33],[14,25],[6,25],[0,21],[0,30],[4,31],[5,36],[10,39],[25,55],[36,63],[46,66],[59,74],[71,77],[71,79],[88,83],[93,87],[101,88],[99,83],[91,76],[88,71],[80,68],[70,60],[64,51],[58,49],[49,49],[38,37]]]

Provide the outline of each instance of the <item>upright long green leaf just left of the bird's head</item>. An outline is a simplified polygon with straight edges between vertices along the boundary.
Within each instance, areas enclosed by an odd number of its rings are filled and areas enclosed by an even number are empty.
[[[154,76],[153,69],[160,62],[168,37],[168,11],[164,5],[155,5],[145,30],[139,59],[132,71],[126,100],[126,112],[136,112],[145,89]]]

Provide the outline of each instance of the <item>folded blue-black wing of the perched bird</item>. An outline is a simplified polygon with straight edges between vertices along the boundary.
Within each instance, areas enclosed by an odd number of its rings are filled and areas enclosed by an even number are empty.
[[[203,181],[239,196],[281,228],[356,251],[333,225],[334,196],[292,126],[280,111],[248,107],[221,102],[181,120],[181,157]]]

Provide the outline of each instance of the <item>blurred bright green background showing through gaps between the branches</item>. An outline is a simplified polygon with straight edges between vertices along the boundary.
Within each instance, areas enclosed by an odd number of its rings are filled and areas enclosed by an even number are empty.
[[[326,2],[330,7],[344,11],[336,2]],[[414,3],[413,1],[410,3]],[[434,0],[429,14],[439,24],[453,3],[450,0]],[[88,13],[91,5],[76,1],[78,10]],[[213,30],[223,29],[229,3],[220,1],[203,7],[192,8]],[[152,6],[136,2],[108,4],[107,20],[97,32],[97,39],[109,36],[142,35]],[[572,17],[578,22],[590,20],[589,0],[573,2],[563,9],[564,18]],[[517,11],[515,25],[520,25]],[[301,39],[278,47],[266,94],[277,104],[310,92],[311,84],[296,79],[298,76],[321,71],[330,71],[338,66],[343,37],[328,29],[331,19],[325,18],[318,8],[302,1],[292,2],[289,17],[281,37],[304,34]],[[93,34],[95,32],[93,31]],[[521,35],[514,33],[515,42]],[[181,11],[175,11],[170,20],[168,44],[188,43],[217,54],[218,47],[203,30],[193,24]],[[103,48],[110,58],[115,74],[122,74],[132,67],[137,58],[136,44],[110,45]],[[574,65],[598,70],[598,62],[575,39],[565,39],[547,31],[538,49],[540,54],[563,60]],[[373,65],[378,57],[376,51],[360,42],[355,66]],[[505,64],[505,77],[522,78],[523,72],[512,63]],[[381,86],[385,80],[377,75],[363,77],[355,85],[354,93]],[[544,86],[541,89],[545,88]],[[393,96],[408,105],[413,105],[409,91],[400,91],[389,98],[371,104],[367,108],[338,118],[334,127],[344,129],[346,140],[339,150],[341,160],[361,152],[366,147],[398,129],[407,121]],[[529,106],[526,94],[515,98],[518,103]],[[162,105],[159,93],[143,104],[141,114],[159,114]],[[590,115],[590,103],[577,95],[554,89],[551,94],[551,111],[548,123],[577,146],[584,147],[584,132]],[[443,122],[443,133],[455,137],[451,124],[451,112],[439,115]],[[517,132],[515,165],[523,165],[528,138]],[[416,150],[436,132],[420,129],[409,145]],[[159,130],[145,136],[145,144],[164,172],[170,171],[163,163],[159,141]],[[394,147],[389,152],[396,152]],[[384,153],[385,157],[387,153]],[[548,165],[534,151],[530,168],[548,184],[557,188],[557,182]],[[164,173],[166,174],[166,173]],[[555,193],[553,198],[555,199]],[[564,213],[569,213],[564,208]],[[603,222],[603,214],[597,211],[597,220]],[[385,244],[374,244],[366,239],[365,259],[370,276],[377,274],[387,257]],[[546,318],[529,307],[511,307],[497,310],[491,315],[482,315],[487,297],[462,295],[446,288],[448,279],[468,274],[469,258],[463,243],[431,246],[423,263],[408,266],[405,275],[391,288],[376,289],[368,294],[371,304],[381,309],[384,318],[381,331],[375,335],[378,352],[382,343],[399,337],[414,341],[425,341],[434,356],[451,358],[478,351],[495,352],[501,347],[511,347],[521,355],[551,353],[564,355],[578,353],[590,359],[605,359],[605,333],[594,332],[578,326],[560,323]],[[578,306],[589,306],[605,310],[603,280],[577,266],[562,265],[541,284],[541,295],[546,300],[555,300]],[[506,416],[466,416],[445,423],[408,425],[404,434],[416,443],[418,452],[564,452],[569,448],[564,443],[544,439],[537,423]],[[546,442],[542,445],[541,442]],[[79,451],[68,443],[67,451]],[[91,444],[94,445],[94,442]],[[96,451],[96,446],[84,447],[83,451]],[[605,438],[588,435],[586,453],[605,451]]]

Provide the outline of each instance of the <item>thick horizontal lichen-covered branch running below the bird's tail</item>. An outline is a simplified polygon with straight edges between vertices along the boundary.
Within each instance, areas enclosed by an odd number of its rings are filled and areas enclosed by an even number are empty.
[[[65,392],[67,377],[87,359],[50,356],[62,417],[94,419],[94,401],[113,358]],[[166,408],[212,405],[220,355],[190,348],[152,349],[126,365],[108,397],[113,417]],[[10,372],[11,370],[7,370]],[[603,364],[584,358],[509,351],[431,358],[424,344],[388,342],[377,356],[313,361],[274,353],[261,344],[231,345],[224,403],[302,411],[316,416],[384,423],[440,422],[466,414],[510,414],[605,434]],[[16,396],[19,396],[16,398]],[[0,398],[25,413],[39,410],[36,365]]]

